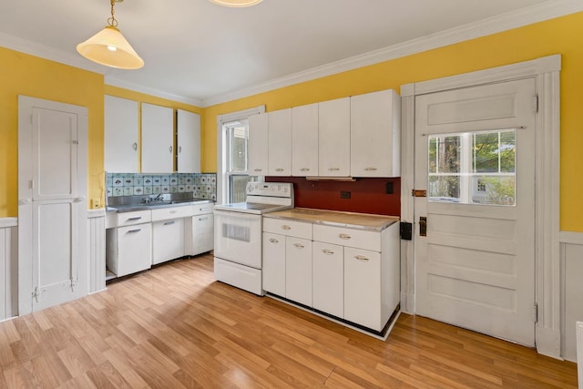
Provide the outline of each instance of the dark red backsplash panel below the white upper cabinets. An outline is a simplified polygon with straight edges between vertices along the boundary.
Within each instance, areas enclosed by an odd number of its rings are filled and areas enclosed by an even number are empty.
[[[401,216],[401,179],[356,179],[355,181],[308,181],[303,177],[266,177],[268,182],[292,182],[295,206],[318,210],[345,210]],[[386,193],[393,183],[393,194]],[[341,191],[351,193],[342,199]]]

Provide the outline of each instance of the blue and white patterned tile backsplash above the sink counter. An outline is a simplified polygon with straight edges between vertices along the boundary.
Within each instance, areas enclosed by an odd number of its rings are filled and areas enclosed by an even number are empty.
[[[216,173],[107,173],[107,197],[192,192],[197,199],[217,200]]]

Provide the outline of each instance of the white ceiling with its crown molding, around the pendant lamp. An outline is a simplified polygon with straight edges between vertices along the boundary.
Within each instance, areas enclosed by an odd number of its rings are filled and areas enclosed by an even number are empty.
[[[109,0],[6,0],[0,4],[0,46],[102,73],[109,85],[206,107],[286,80],[571,13],[575,3],[263,0],[228,8],[209,0],[125,0],[115,6],[118,27],[146,65],[119,70],[76,51],[106,26]]]

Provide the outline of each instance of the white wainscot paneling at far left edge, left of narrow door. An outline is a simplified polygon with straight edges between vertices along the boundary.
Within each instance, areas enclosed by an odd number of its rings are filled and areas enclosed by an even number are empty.
[[[0,218],[0,322],[18,314],[17,219]]]

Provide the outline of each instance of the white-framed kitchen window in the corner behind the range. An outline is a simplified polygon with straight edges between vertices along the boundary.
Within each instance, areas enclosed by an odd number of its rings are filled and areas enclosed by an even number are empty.
[[[255,107],[244,111],[233,112],[218,117],[219,160],[217,180],[217,200],[219,203],[245,201],[245,187],[251,180],[262,180],[262,177],[251,177],[247,173],[247,142],[249,139],[249,120],[251,115],[264,113],[265,107]]]

